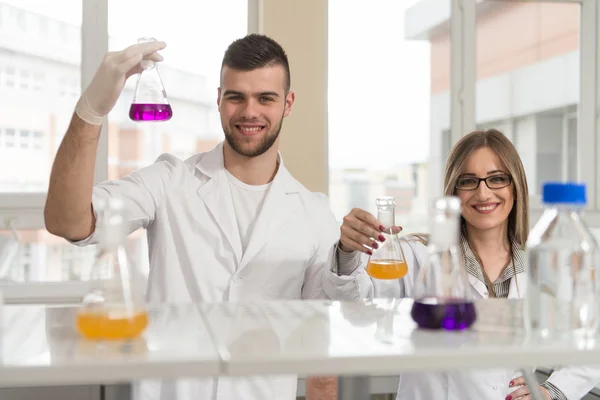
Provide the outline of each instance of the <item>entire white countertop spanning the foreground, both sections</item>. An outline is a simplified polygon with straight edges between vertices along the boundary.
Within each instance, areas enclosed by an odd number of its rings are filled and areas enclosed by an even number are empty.
[[[528,338],[520,300],[477,302],[478,321],[464,332],[415,329],[411,304],[397,299],[164,306],[151,309],[144,340],[128,346],[80,339],[73,308],[5,306],[0,386],[263,373],[395,375],[600,359],[598,341]]]

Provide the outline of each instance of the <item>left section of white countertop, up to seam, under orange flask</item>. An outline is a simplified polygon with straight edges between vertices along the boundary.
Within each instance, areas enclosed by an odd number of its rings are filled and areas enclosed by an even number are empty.
[[[144,338],[127,344],[81,339],[72,307],[4,306],[3,314],[0,387],[212,376],[221,369],[194,305],[150,310]]]

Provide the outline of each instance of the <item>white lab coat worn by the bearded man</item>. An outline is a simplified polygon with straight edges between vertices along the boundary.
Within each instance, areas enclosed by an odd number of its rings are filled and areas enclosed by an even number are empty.
[[[339,229],[327,197],[303,187],[283,161],[244,254],[222,143],[186,161],[162,155],[125,178],[97,185],[92,202],[110,196],[125,200],[129,232],[147,229],[149,302],[327,298],[324,282],[337,288],[339,298],[350,293],[344,286],[353,278],[329,269]],[[92,234],[76,244],[95,240]],[[221,379],[218,384],[216,379],[180,379],[145,382],[137,393],[143,400],[291,400],[296,382],[294,376]]]

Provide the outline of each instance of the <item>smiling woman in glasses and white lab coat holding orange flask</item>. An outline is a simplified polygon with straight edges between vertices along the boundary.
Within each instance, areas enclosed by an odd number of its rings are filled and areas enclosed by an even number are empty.
[[[445,195],[462,202],[461,247],[475,298],[520,298],[527,289],[524,246],[529,230],[527,181],[513,144],[499,131],[476,131],[452,148],[445,169]],[[357,297],[410,297],[426,240],[406,236],[402,246],[408,275],[400,280],[370,280],[364,265],[381,224],[354,209],[344,218],[335,255],[339,275],[354,275]],[[401,228],[397,228],[400,230]],[[546,399],[579,399],[600,380],[591,368],[564,368],[541,385]],[[510,370],[416,372],[402,374],[397,400],[528,400],[523,378]]]

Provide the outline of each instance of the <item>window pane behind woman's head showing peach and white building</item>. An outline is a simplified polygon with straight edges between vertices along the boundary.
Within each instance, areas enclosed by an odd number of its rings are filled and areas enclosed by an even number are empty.
[[[577,179],[581,6],[484,6],[476,20],[476,123],[513,141],[539,206],[543,182]]]

